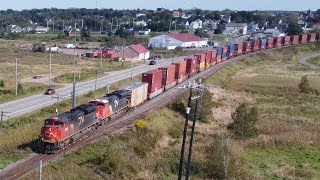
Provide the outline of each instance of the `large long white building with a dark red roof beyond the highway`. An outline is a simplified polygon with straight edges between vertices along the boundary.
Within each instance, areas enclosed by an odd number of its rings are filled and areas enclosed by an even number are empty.
[[[208,44],[207,39],[189,33],[164,34],[149,39],[148,47],[203,47]]]

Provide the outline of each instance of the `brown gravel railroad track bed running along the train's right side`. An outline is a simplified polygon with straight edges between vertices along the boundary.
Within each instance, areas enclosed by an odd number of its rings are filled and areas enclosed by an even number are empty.
[[[290,47],[290,46],[286,46]],[[245,54],[242,56],[238,57],[233,57],[229,60],[223,61],[219,64],[216,64],[214,66],[211,66],[210,68],[204,70],[203,72],[187,79],[186,81],[180,83],[176,87],[187,85],[189,81],[193,81],[197,78],[208,78],[215,74],[217,71],[220,69],[224,68],[225,66],[239,60],[243,60],[245,58],[248,58],[249,56],[256,55],[258,53],[266,52],[266,51],[271,51],[274,49],[280,49],[283,47],[279,48],[273,48],[273,49],[266,49],[263,51],[259,52],[253,52],[250,54]],[[130,113],[124,113],[123,115],[120,115],[120,117],[114,119],[111,121],[108,125],[102,126],[98,128],[95,131],[91,131],[88,133],[88,135],[82,137],[78,141],[74,142],[73,144],[65,147],[64,149],[58,151],[55,154],[37,154],[34,157],[31,157],[21,163],[18,163],[14,165],[13,167],[3,170],[0,173],[0,179],[1,180],[11,180],[11,179],[19,179],[26,175],[29,172],[32,172],[36,170],[39,166],[40,160],[43,161],[43,164],[49,164],[50,162],[53,162],[57,160],[58,158],[62,157],[64,154],[73,152],[77,150],[79,147],[84,146],[85,144],[88,144],[92,141],[95,141],[103,136],[106,135],[112,135],[118,132],[125,131],[128,127],[132,126],[133,122],[137,119],[143,118],[146,114],[149,112],[162,108],[166,106],[168,103],[170,103],[173,99],[176,97],[182,95],[183,93],[187,92],[188,90],[186,89],[177,89],[177,88],[172,88],[159,96],[153,98],[150,101],[147,101],[146,103],[142,104],[141,106],[137,107],[136,109],[132,110]]]

